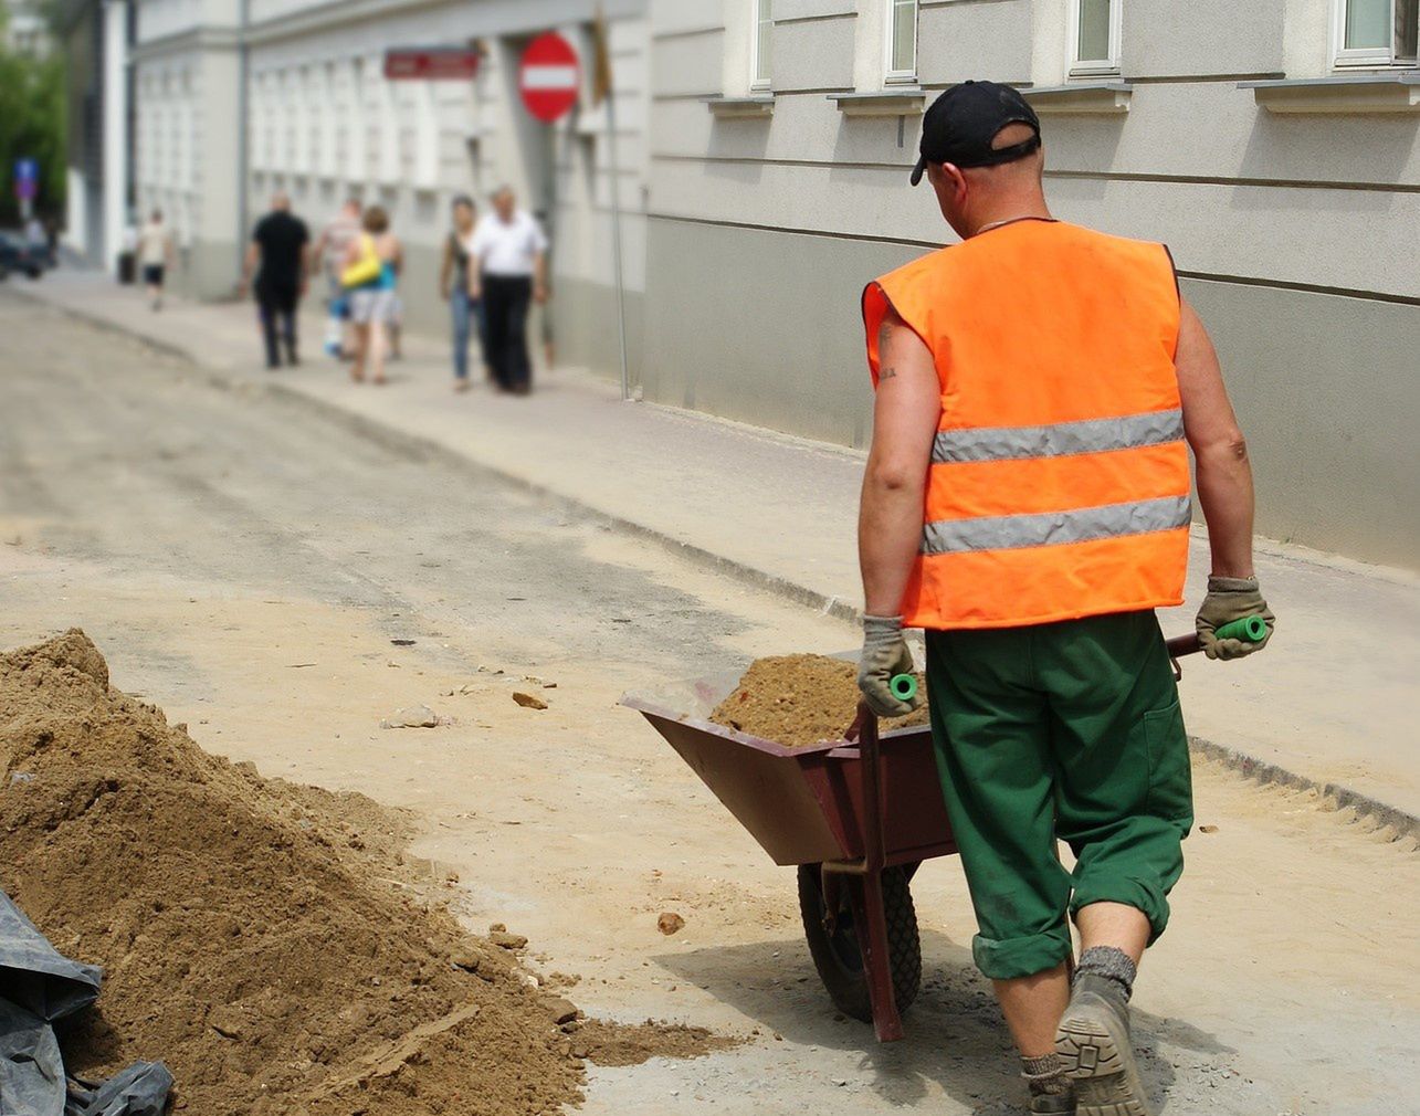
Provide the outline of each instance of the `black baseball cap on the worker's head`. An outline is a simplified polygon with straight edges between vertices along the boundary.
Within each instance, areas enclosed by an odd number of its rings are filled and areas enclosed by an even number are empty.
[[[1030,125],[1035,135],[993,149],[991,141],[1008,124]],[[927,163],[995,166],[1024,159],[1039,146],[1041,119],[1018,89],[994,81],[966,81],[946,89],[922,118],[922,158],[912,169],[912,185],[922,182]]]

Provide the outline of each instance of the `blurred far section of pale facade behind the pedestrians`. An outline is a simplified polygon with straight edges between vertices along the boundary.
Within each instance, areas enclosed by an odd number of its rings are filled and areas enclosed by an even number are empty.
[[[449,203],[486,206],[511,185],[554,239],[552,321],[559,359],[618,359],[611,267],[606,105],[591,105],[594,6],[579,0],[135,0],[135,200],[169,216],[176,283],[230,295],[256,219],[275,192],[312,229],[356,197],[392,214],[406,248],[409,322],[442,328],[437,270]],[[648,23],[636,0],[604,4],[615,72],[621,200],[633,359],[645,285]],[[557,30],[586,87],[555,126],[517,89],[518,58]],[[471,47],[473,81],[385,77],[400,47]]]

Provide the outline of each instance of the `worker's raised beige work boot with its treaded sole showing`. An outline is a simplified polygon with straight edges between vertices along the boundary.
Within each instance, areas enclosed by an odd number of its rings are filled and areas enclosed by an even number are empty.
[[[1129,1038],[1129,1004],[1115,981],[1093,973],[1075,978],[1055,1052],[1075,1082],[1078,1116],[1153,1116]]]

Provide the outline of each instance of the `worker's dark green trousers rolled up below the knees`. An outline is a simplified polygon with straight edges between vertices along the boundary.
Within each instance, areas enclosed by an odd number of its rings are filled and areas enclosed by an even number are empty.
[[[1193,781],[1153,612],[927,632],[927,687],[977,967],[994,980],[1054,968],[1071,953],[1066,914],[1089,903],[1136,907],[1157,939]]]

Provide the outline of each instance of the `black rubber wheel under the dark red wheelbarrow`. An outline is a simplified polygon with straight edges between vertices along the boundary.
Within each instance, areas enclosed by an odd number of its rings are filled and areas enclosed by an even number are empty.
[[[917,998],[922,985],[922,939],[917,934],[910,879],[912,870],[907,866],[883,869],[888,956],[892,960],[892,984],[899,1012],[906,1011]],[[868,974],[863,971],[863,953],[848,902],[848,889],[861,886],[856,879],[843,880],[841,909],[834,920],[834,933],[829,934],[824,926],[828,910],[824,903],[822,869],[818,865],[799,865],[798,869],[799,914],[804,917],[804,936],[814,957],[814,968],[818,970],[834,1007],[855,1019],[872,1022]]]

